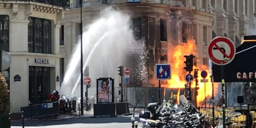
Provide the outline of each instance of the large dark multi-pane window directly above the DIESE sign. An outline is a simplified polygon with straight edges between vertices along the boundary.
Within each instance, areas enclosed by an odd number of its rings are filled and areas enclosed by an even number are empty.
[[[29,17],[28,52],[52,53],[52,22],[48,19]]]

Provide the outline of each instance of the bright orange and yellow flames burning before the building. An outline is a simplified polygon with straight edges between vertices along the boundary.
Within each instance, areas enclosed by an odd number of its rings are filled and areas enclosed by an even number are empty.
[[[185,88],[185,75],[188,73],[185,71],[184,67],[185,67],[185,63],[184,61],[186,60],[186,58],[184,57],[184,55],[186,54],[193,54],[196,57],[198,57],[198,54],[196,52],[196,45],[194,40],[189,40],[187,41],[187,43],[182,43],[181,45],[175,46],[170,48],[172,50],[169,51],[169,59],[170,63],[171,63],[171,80],[168,80],[168,87],[169,88]],[[196,58],[194,58],[194,61],[196,61],[197,65],[194,66],[194,69],[199,69],[198,71],[198,80],[199,80],[199,94],[197,96],[197,104],[199,105],[200,103],[202,103],[204,101],[204,83],[200,82],[200,79],[203,79],[201,77],[201,71],[205,70],[208,72],[208,76],[205,79],[208,79],[208,82],[205,83],[206,86],[206,97],[210,97],[212,96],[212,83],[211,83],[211,78],[209,75],[209,68],[206,65],[202,65],[202,63],[200,61],[198,61]],[[194,71],[191,72],[191,74],[194,76]],[[193,82],[191,83],[191,87],[195,88],[195,79],[193,80]],[[217,92],[217,83],[214,83],[214,93]],[[178,96],[180,94],[180,89],[178,92]],[[192,92],[192,97],[193,92]],[[179,98],[179,97],[177,97]],[[179,99],[177,99],[178,103],[179,103]]]

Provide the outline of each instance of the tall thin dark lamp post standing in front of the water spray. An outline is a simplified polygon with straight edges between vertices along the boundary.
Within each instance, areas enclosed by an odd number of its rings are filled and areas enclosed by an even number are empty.
[[[81,36],[81,115],[84,115],[84,84],[83,84],[83,22],[82,22],[82,8],[83,2],[80,0],[80,14],[81,14],[81,23],[80,23],[80,36]]]

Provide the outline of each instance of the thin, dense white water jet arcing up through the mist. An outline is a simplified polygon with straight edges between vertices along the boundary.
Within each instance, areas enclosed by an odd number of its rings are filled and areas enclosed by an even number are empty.
[[[102,35],[102,37],[94,44],[93,49],[91,49],[91,51],[90,51],[90,53],[89,53],[89,55],[88,55],[88,57],[87,57],[87,59],[86,59],[86,61],[85,61],[85,63],[84,63],[83,72],[84,72],[86,66],[88,65],[88,63],[89,63],[89,61],[90,61],[90,59],[91,59],[91,56],[93,55],[95,49],[97,48],[97,46],[99,45],[99,43],[100,43],[107,35],[109,35],[109,32],[105,32],[105,33]],[[75,91],[77,85],[79,84],[79,82],[80,82],[80,77],[81,77],[81,73],[80,73],[79,77],[77,78],[77,81],[76,81],[75,86],[74,86],[74,88],[73,88],[73,90],[72,90],[72,92],[71,92],[71,95],[73,95],[73,93],[74,93],[74,91]]]

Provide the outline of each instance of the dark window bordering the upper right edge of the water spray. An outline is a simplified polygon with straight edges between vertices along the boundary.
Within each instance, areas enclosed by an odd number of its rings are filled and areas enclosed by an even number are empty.
[[[131,19],[131,30],[133,30],[134,38],[141,39],[141,18]]]

